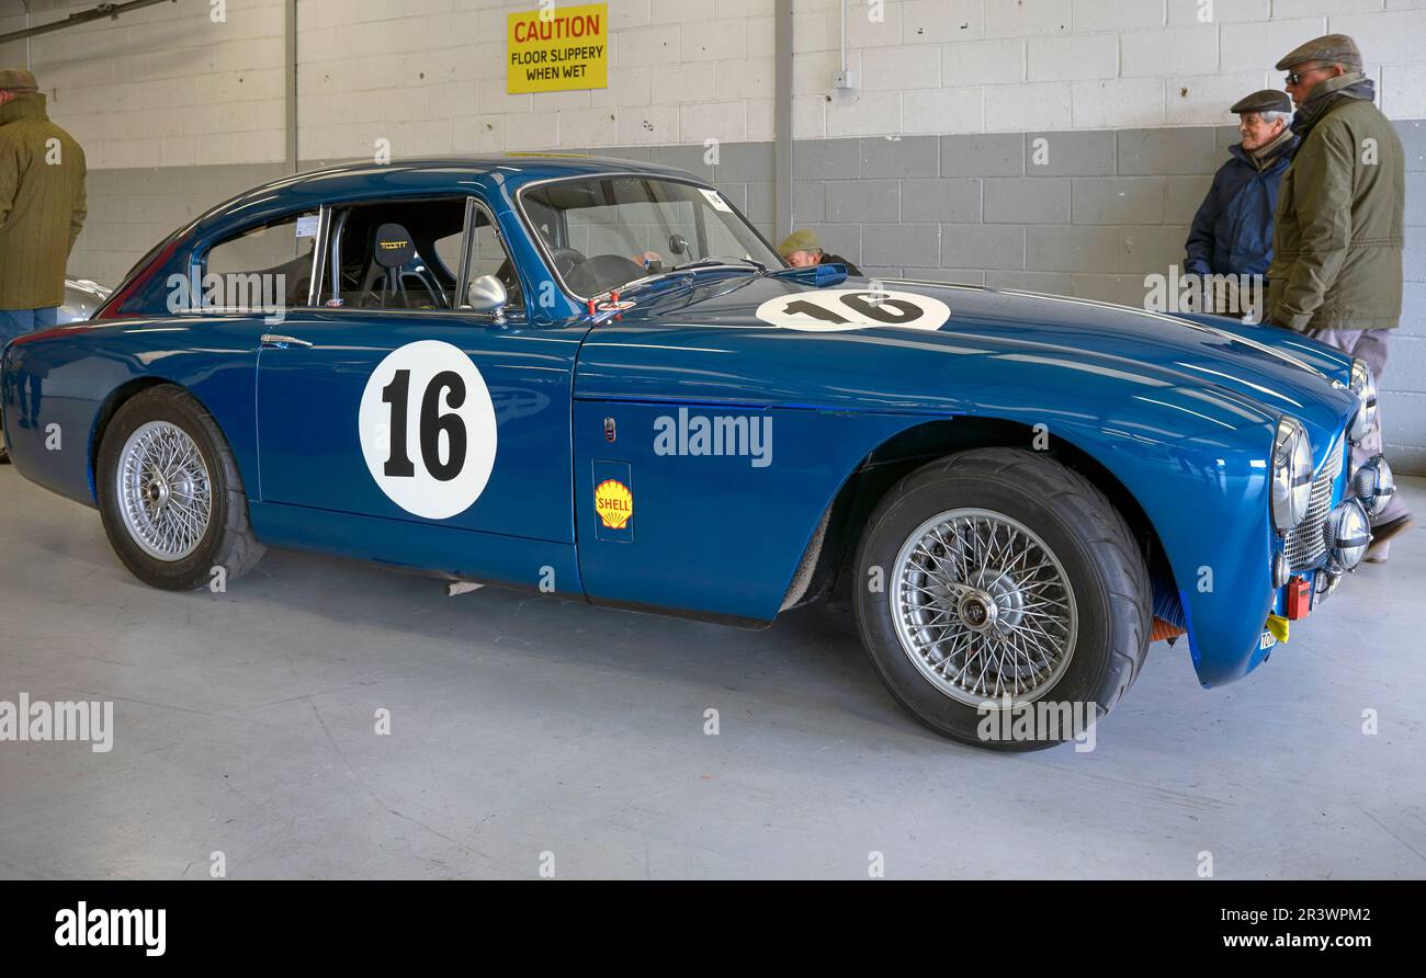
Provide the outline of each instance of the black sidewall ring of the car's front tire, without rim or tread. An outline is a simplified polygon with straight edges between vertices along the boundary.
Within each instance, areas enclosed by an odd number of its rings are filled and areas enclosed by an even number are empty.
[[[890,505],[878,509],[863,537],[857,559],[857,623],[861,640],[883,681],[918,720],[955,740],[1005,750],[1032,750],[1058,741],[987,741],[980,736],[984,716],[978,707],[941,693],[911,662],[896,632],[891,612],[897,553],[921,523],[937,513],[974,508],[1002,513],[1040,536],[1064,566],[1074,592],[1078,632],[1074,654],[1064,674],[1037,701],[1082,704],[1075,716],[1088,720],[1114,703],[1115,677],[1109,663],[1114,647],[1111,586],[1095,559],[1092,545],[1067,519],[1052,499],[1015,478],[961,473],[955,466],[920,478]],[[921,475],[921,473],[917,473]],[[914,479],[915,476],[913,476]],[[867,586],[873,567],[883,569],[883,590]]]

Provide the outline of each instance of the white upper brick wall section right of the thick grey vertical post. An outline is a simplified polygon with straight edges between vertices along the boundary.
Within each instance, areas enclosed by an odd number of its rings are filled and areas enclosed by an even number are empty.
[[[793,0],[796,135],[887,131],[866,98],[833,93],[838,10],[834,0]],[[1232,103],[1281,87],[1273,63],[1328,31],[1362,44],[1390,117],[1426,113],[1426,0],[886,0],[878,24],[866,23],[870,11],[867,0],[848,6],[848,67],[863,70],[877,104],[897,87],[871,78],[868,56],[910,66],[904,51],[941,48],[947,105],[935,111],[935,88],[908,71],[904,133],[928,131],[928,117],[944,133],[1232,124]],[[971,86],[984,87],[981,128],[967,111]]]

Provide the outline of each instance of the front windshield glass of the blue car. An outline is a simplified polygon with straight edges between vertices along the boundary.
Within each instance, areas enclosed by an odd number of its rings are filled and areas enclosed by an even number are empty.
[[[716,190],[650,177],[585,177],[520,195],[532,231],[570,292],[600,295],[694,264],[781,268]]]

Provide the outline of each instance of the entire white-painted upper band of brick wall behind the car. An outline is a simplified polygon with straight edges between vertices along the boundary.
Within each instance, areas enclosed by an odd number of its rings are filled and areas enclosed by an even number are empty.
[[[566,3],[569,0],[560,0]],[[773,138],[774,0],[607,0],[609,87],[509,96],[505,23],[538,0],[301,0],[299,154],[366,155]],[[1380,104],[1426,115],[1426,0],[793,3],[799,138],[1232,121],[1273,61],[1353,34]],[[33,0],[34,20],[93,0]],[[1205,10],[1212,17],[1205,21]],[[14,30],[23,16],[0,16]],[[54,117],[106,167],[271,163],[284,133],[281,0],[161,4],[36,38]],[[0,48],[24,63],[24,47]]]

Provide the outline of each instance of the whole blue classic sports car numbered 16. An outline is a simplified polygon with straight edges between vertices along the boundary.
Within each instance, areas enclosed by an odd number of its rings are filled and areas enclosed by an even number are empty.
[[[787,268],[716,188],[583,157],[277,180],[3,368],[20,472],[150,585],[279,546],[746,626],[840,586],[896,699],[1000,748],[1154,637],[1243,677],[1392,492],[1346,470],[1369,371],[1309,339]]]

